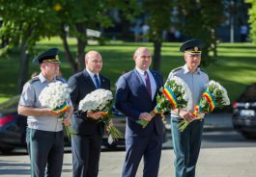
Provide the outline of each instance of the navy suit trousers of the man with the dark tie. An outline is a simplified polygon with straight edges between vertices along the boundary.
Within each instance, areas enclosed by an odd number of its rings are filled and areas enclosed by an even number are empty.
[[[144,177],[156,177],[161,156],[162,135],[156,132],[145,137],[126,138],[126,160],[123,177],[135,177],[139,163],[144,158]]]

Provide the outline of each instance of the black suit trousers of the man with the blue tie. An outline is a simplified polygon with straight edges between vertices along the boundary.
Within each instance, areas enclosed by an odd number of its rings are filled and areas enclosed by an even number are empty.
[[[71,144],[73,177],[97,177],[102,137],[75,135]]]

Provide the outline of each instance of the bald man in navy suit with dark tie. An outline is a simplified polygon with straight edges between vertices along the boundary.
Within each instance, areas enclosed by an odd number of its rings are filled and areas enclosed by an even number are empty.
[[[126,151],[123,177],[134,177],[144,157],[144,177],[156,177],[161,155],[163,124],[158,114],[150,112],[156,106],[156,94],[163,79],[149,69],[152,58],[149,49],[139,47],[134,55],[135,68],[120,77],[117,83],[116,108],[127,115]],[[142,128],[138,121],[149,121]]]

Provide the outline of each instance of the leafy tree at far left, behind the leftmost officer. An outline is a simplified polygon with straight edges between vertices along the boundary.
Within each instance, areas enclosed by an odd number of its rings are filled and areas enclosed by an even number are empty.
[[[50,3],[40,0],[0,0],[0,16],[3,18],[0,36],[9,39],[2,51],[13,46],[20,49],[17,92],[21,92],[28,75],[29,54],[37,41],[54,34],[52,25],[58,18]]]

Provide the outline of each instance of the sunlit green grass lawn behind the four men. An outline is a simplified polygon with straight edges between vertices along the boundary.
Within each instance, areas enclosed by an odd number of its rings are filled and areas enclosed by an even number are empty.
[[[76,40],[71,38],[72,55],[76,55]],[[169,72],[185,62],[183,53],[179,52],[181,43],[163,43],[161,49],[161,73],[166,79]],[[110,78],[111,89],[115,90],[115,82],[123,70],[134,67],[132,55],[138,46],[147,46],[153,51],[152,43],[134,42],[109,42],[103,46],[91,45],[88,50],[100,51],[103,58],[102,74]],[[49,47],[60,48],[61,69],[68,79],[71,74],[70,65],[64,61],[64,49],[59,38],[43,40],[37,44],[36,53],[31,56],[31,61],[37,54]],[[234,101],[246,85],[256,82],[256,46],[251,43],[221,43],[217,49],[216,63],[204,67],[213,79],[223,85],[229,93],[231,101]],[[202,59],[204,60],[204,59]],[[0,102],[16,94],[16,83],[19,69],[19,53],[14,49],[8,57],[0,58]],[[39,71],[39,67],[30,63],[29,74]],[[27,76],[29,79],[29,76]]]

